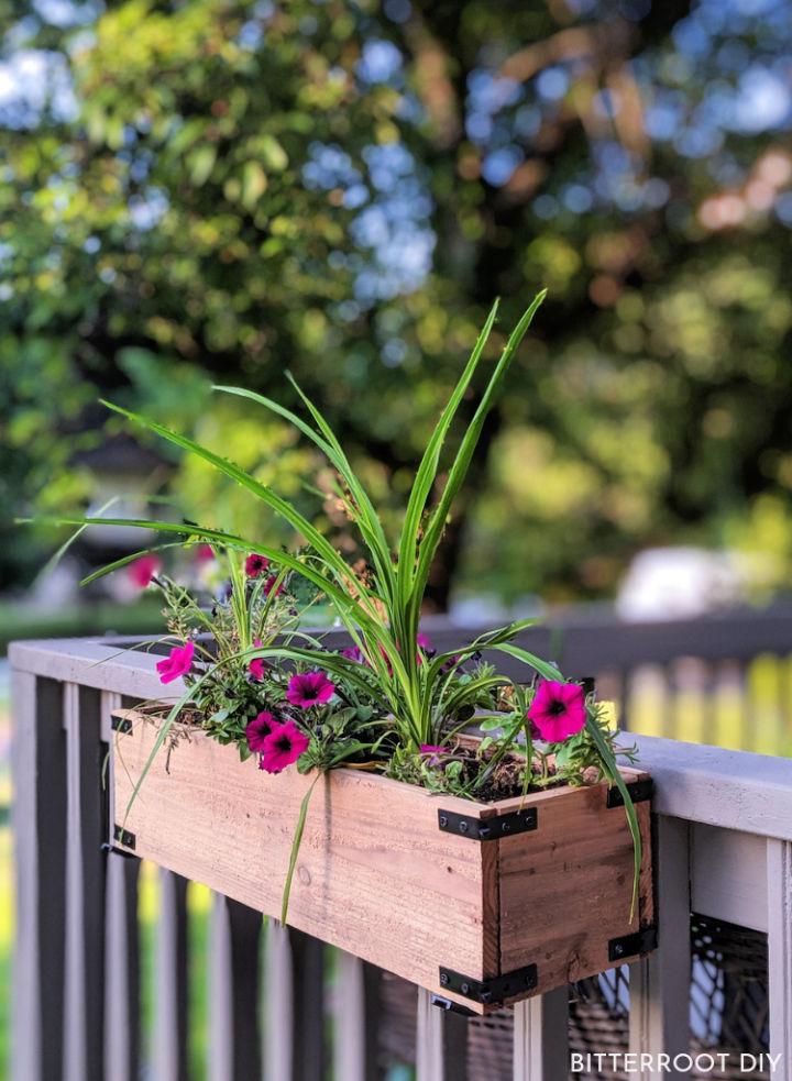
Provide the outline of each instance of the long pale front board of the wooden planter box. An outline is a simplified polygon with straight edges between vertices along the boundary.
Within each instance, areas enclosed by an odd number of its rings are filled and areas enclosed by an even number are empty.
[[[156,729],[116,740],[117,803],[127,805]],[[277,916],[299,804],[312,779],[270,776],[202,733],[157,757],[127,827],[138,854]],[[387,799],[385,799],[385,795]],[[475,813],[475,805],[443,806]],[[439,990],[439,966],[486,974],[482,846],[442,832],[425,790],[334,771],[310,802],[289,924]],[[407,900],[406,900],[407,898]],[[442,944],[442,956],[438,953]],[[488,939],[492,956],[494,945]]]

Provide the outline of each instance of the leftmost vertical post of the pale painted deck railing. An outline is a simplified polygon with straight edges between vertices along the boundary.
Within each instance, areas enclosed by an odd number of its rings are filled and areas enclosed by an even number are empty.
[[[66,733],[63,686],[12,670],[14,1081],[63,1078]]]

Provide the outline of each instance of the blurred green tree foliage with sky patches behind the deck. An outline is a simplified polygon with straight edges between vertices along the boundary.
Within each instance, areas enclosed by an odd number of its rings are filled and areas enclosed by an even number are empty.
[[[321,481],[209,391],[294,404],[286,369],[395,514],[493,298],[503,335],[547,285],[436,602],[608,595],[688,541],[784,583],[789,2],[0,0],[0,25],[6,520],[90,496],[99,391]],[[245,512],[194,464],[170,485]],[[2,530],[8,584],[36,562]]]

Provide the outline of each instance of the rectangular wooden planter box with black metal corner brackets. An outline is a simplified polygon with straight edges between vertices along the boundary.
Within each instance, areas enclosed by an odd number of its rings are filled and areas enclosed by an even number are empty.
[[[113,724],[119,847],[277,917],[314,777],[176,725],[123,821],[157,721]],[[635,960],[656,945],[651,782],[623,772],[644,836],[632,923],[632,840],[606,784],[482,804],[349,769],[314,790],[288,922],[479,1014]]]

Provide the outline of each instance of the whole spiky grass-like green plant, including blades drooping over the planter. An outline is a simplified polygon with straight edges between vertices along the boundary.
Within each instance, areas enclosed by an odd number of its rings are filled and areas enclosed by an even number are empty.
[[[251,499],[258,500],[287,522],[305,547],[298,552],[284,551],[262,544],[256,538],[242,537],[223,529],[164,520],[109,518],[105,514],[90,518],[59,519],[59,525],[72,525],[78,527],[78,530],[89,525],[123,525],[156,530],[162,534],[162,541],[156,549],[150,551],[160,551],[173,544],[195,544],[201,541],[208,542],[218,552],[226,550],[237,558],[241,552],[260,553],[271,560],[282,575],[301,576],[323,594],[356,647],[356,650],[344,651],[355,653],[354,658],[330,652],[321,640],[296,626],[286,635],[280,633],[264,641],[254,640],[251,635],[240,633],[238,652],[221,657],[213,665],[209,664],[208,671],[190,683],[187,692],[170,709],[161,727],[148,762],[134,787],[130,806],[168,729],[191,696],[196,695],[207,681],[215,679],[223,666],[257,658],[292,664],[298,670],[311,665],[320,666],[329,671],[337,683],[351,688],[353,695],[367,696],[374,715],[381,718],[383,730],[387,733],[378,737],[376,744],[371,746],[380,747],[383,739],[387,740],[391,750],[381,766],[392,775],[400,777],[409,775],[410,769],[414,769],[416,760],[420,760],[422,749],[427,744],[448,744],[452,741],[454,733],[470,720],[474,708],[482,702],[492,703],[498,696],[504,701],[513,703],[516,701],[519,708],[512,708],[512,727],[515,735],[519,731],[520,738],[525,739],[522,744],[524,749],[527,748],[525,783],[526,786],[529,784],[532,752],[525,696],[518,685],[508,677],[498,675],[492,665],[477,663],[477,659],[482,650],[486,650],[488,654],[502,652],[525,664],[527,679],[520,681],[521,683],[530,682],[535,673],[546,681],[563,683],[563,677],[554,664],[541,660],[514,641],[531,620],[513,622],[490,631],[453,652],[433,654],[422,644],[419,619],[432,561],[437,555],[454,498],[464,483],[475,454],[484,421],[543,299],[542,290],[517,322],[503,352],[483,380],[473,418],[462,433],[450,463],[443,463],[443,474],[447,479],[444,486],[438,490],[438,476],[447,437],[482,364],[495,323],[497,301],[493,305],[459,382],[426,445],[402,527],[395,538],[388,538],[374,501],[356,476],[321,410],[290,376],[292,385],[304,407],[301,415],[252,390],[241,387],[215,387],[217,391],[246,398],[287,421],[326,456],[334,471],[338,499],[350,522],[356,528],[367,553],[366,570],[363,573],[351,567],[333,547],[332,541],[292,503],[245,470],[187,435],[121,406],[103,402],[109,409],[133,423],[208,462],[218,473],[245,489]],[[140,554],[125,556],[103,567],[101,572],[95,572],[91,577],[116,570]],[[235,583],[234,593],[239,597],[244,596],[243,582]],[[476,662],[473,672],[463,673],[465,662],[471,660]],[[364,663],[361,664],[361,661]],[[508,698],[509,695],[513,696],[512,699]],[[632,895],[635,908],[641,865],[641,835],[637,815],[616,763],[618,749],[614,743],[614,733],[607,733],[602,729],[595,714],[591,710],[585,720],[585,738],[595,754],[601,775],[616,785],[624,797],[635,849]],[[509,743],[510,738],[506,739],[504,747]],[[341,762],[333,760],[324,765],[315,763],[318,772],[334,764]],[[485,775],[486,771],[482,776]],[[475,797],[473,790],[466,794]],[[305,808],[301,813],[301,819],[304,818]],[[285,896],[287,895],[288,883]]]

